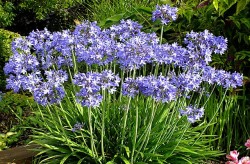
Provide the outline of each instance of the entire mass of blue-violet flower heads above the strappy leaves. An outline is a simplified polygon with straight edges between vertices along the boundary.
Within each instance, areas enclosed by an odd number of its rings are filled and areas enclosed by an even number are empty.
[[[177,18],[176,12],[177,8],[168,5],[157,6],[153,18],[162,19],[167,24]],[[6,87],[15,92],[30,91],[42,105],[60,102],[65,95],[63,84],[68,79],[63,69],[73,66],[73,57],[89,66],[112,64],[125,71],[140,69],[148,63],[172,65],[182,70],[179,74],[169,72],[166,77],[128,77],[121,85],[126,96],[141,93],[161,102],[197,91],[203,82],[225,88],[242,85],[241,74],[215,70],[208,65],[212,54],[226,51],[225,38],[214,36],[207,30],[192,31],[184,38],[185,46],[160,44],[155,33],[145,33],[141,29],[137,22],[122,20],[108,29],[101,29],[96,22],[84,21],[73,31],[33,31],[12,43],[13,56],[4,67],[8,75]],[[80,87],[77,97],[87,107],[99,106],[102,101],[100,91],[107,89],[114,93],[119,83],[120,78],[110,70],[74,75],[74,84]]]

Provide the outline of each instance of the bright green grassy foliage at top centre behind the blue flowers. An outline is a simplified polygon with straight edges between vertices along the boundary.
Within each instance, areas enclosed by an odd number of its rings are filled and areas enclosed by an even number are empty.
[[[158,3],[160,3],[159,0],[93,0],[88,4],[89,10],[91,11],[89,17],[91,20],[101,23],[101,25],[103,25],[104,22],[114,24],[121,19],[127,18],[140,18],[145,21],[143,15],[146,13],[151,15],[152,9]],[[148,14],[146,16],[148,16]]]

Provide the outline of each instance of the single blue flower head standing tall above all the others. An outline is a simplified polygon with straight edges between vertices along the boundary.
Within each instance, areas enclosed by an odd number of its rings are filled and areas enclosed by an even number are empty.
[[[169,5],[157,5],[156,10],[153,12],[152,21],[160,19],[163,25],[167,25],[169,22],[177,19],[177,11],[177,7],[171,7]]]

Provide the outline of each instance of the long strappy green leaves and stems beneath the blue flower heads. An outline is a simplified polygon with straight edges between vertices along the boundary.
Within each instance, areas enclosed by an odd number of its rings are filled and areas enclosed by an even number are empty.
[[[208,124],[192,128],[179,118],[180,102],[108,96],[88,109],[67,97],[36,111],[32,142],[41,146],[40,163],[203,163],[220,156],[208,146],[213,136],[200,133]],[[76,123],[83,126],[72,131]]]

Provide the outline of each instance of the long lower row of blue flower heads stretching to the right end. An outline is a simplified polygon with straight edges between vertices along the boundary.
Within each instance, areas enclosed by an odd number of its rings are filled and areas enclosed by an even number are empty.
[[[122,84],[122,93],[125,96],[135,97],[139,93],[151,96],[156,101],[169,102],[185,96],[191,91],[201,89],[201,84],[221,85],[225,88],[242,86],[243,76],[239,73],[229,73],[224,70],[215,70],[207,66],[201,69],[187,70],[180,74],[170,72],[168,76],[145,76],[126,78]]]

